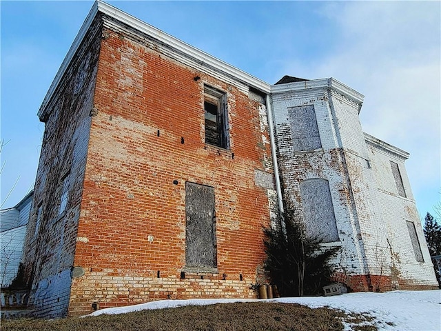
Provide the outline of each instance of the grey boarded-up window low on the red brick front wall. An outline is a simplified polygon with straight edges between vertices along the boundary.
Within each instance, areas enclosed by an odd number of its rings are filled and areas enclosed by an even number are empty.
[[[216,215],[214,188],[185,183],[185,264],[216,268]]]

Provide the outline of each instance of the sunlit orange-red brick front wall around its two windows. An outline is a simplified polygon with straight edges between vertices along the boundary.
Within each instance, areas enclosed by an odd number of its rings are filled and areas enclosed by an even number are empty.
[[[73,280],[70,314],[93,302],[255,297],[269,221],[267,190],[254,183],[270,155],[259,103],[153,46],[103,35],[74,259],[85,274]],[[231,150],[204,143],[204,83],[227,92]],[[180,279],[186,181],[214,187],[218,273]]]

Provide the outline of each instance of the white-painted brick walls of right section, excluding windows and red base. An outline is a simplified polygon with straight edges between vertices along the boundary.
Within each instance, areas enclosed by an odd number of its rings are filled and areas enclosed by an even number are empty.
[[[336,88],[329,87],[330,81],[327,80],[328,85],[320,80],[285,84],[285,88],[273,86],[272,106],[284,199],[299,208],[301,217],[300,181],[327,179],[342,247],[334,261],[340,272],[393,274],[408,283],[436,285],[404,168],[405,158],[385,154],[383,149],[369,144],[377,141],[401,153],[373,137],[366,140],[358,117],[362,98],[349,88],[338,88],[338,84]],[[294,152],[288,108],[307,105],[314,105],[322,148]],[[398,196],[390,161],[398,163],[406,198]],[[416,225],[424,263],[416,261],[406,221]]]

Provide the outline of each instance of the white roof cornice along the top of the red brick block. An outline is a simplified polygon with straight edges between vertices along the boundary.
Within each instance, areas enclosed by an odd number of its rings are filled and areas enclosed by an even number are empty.
[[[256,88],[266,93],[270,92],[269,83],[266,83],[265,81],[262,81],[261,79],[258,79],[252,76],[251,74],[248,74],[247,72],[244,72],[243,70],[240,70],[232,65],[229,65],[225,61],[217,59],[216,57],[213,57],[212,55],[203,52],[198,48],[190,46],[188,43],[185,43],[171,36],[170,34],[167,34],[155,28],[154,26],[151,26],[148,23],[145,23],[140,19],[137,19],[136,17],[127,14],[126,12],[123,12],[122,10],[119,10],[114,6],[111,6],[108,3],[105,3],[101,0],[97,0],[94,2],[94,5],[92,6],[92,9],[90,10],[88,16],[86,17],[78,34],[76,34],[76,37],[74,39],[74,42],[72,43],[72,46],[70,46],[68,54],[66,54],[63,63],[61,63],[61,66],[57,74],[55,75],[54,81],[52,81],[48,93],[46,94],[43,103],[41,104],[40,110],[37,114],[39,117],[41,117],[41,115],[43,114],[43,110],[45,106],[47,105],[48,101],[51,99],[52,95],[54,94],[54,91],[57,89],[57,86],[59,85],[61,78],[63,77],[63,74],[67,70],[70,62],[74,57],[74,54],[76,53],[76,50],[78,50],[79,46],[81,45],[85,37],[85,34],[88,32],[90,26],[92,25],[92,21],[99,12],[109,17],[112,17],[113,19],[116,19],[121,23],[125,23],[127,26],[130,26],[135,30],[139,30],[140,32],[150,35],[154,39],[157,39],[158,41],[165,43],[165,45],[167,46],[180,50],[181,52],[183,52],[183,54],[186,54],[189,57],[196,59],[196,61],[199,61],[201,65],[205,64],[207,66],[212,66],[213,68],[216,68],[221,72],[225,72],[225,74],[229,74],[232,77],[236,77],[236,79],[247,83],[249,86],[252,86],[253,88]]]

